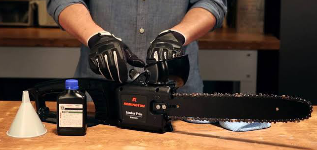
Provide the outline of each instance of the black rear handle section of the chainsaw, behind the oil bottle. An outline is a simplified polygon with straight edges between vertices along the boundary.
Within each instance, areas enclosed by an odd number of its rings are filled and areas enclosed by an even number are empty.
[[[74,78],[73,78],[74,79]],[[79,91],[87,92],[91,96],[95,105],[95,119],[103,124],[117,123],[117,117],[114,115],[118,112],[114,90],[124,83],[117,83],[100,78],[75,78],[79,81]],[[56,112],[52,112],[46,107],[46,101],[56,101],[57,95],[65,90],[65,80],[57,79],[37,84],[30,88],[30,98],[36,101],[37,112],[40,119],[45,122],[56,123]],[[109,107],[115,106],[115,107]]]

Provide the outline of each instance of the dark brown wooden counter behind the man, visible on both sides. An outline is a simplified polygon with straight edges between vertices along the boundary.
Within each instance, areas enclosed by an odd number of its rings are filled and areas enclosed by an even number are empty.
[[[278,50],[279,40],[271,35],[242,34],[217,29],[198,39],[200,49]],[[80,42],[58,28],[0,28],[0,46],[79,47]]]

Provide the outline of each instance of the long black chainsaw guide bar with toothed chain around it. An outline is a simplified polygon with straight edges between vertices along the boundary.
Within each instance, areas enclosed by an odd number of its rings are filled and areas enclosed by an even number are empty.
[[[291,97],[291,96],[284,96],[284,95],[283,96],[267,95],[267,94],[253,95],[253,94],[238,94],[238,93],[236,94],[174,93],[173,97],[174,97],[174,100],[180,101],[179,104],[182,104],[181,102],[182,100],[193,101],[193,106],[196,105],[195,107],[198,107],[197,104],[201,104],[200,102],[197,102],[199,100],[200,101],[204,101],[204,100],[214,101],[214,102],[210,102],[210,104],[208,104],[208,102],[204,104],[210,106],[207,109],[217,110],[218,114],[214,115],[215,117],[197,117],[197,115],[191,116],[191,114],[188,114],[187,116],[185,116],[184,114],[186,114],[187,111],[184,111],[184,112],[180,112],[180,114],[183,114],[183,115],[172,115],[172,114],[168,115],[167,117],[169,119],[188,119],[188,120],[201,120],[201,121],[207,120],[211,122],[215,122],[215,121],[274,122],[274,123],[299,122],[301,120],[308,119],[309,117],[311,117],[311,113],[313,112],[313,107],[311,105],[312,103],[310,101],[301,99],[299,97]],[[263,101],[263,102],[258,102],[258,101]],[[266,105],[266,103],[268,105]],[[178,104],[178,107],[181,108],[179,104]],[[215,106],[212,104],[217,104],[217,105]],[[256,104],[256,106],[254,104]],[[223,107],[221,105],[223,105]],[[243,107],[243,105],[245,107]],[[221,109],[219,109],[219,107],[221,107]],[[204,107],[200,107],[200,108],[204,108]],[[190,110],[191,109],[188,109],[188,113],[193,113]],[[201,109],[200,111],[202,112]],[[244,114],[244,116],[246,117],[242,117],[243,116],[242,114],[236,115],[238,113],[237,111],[239,112],[245,111],[245,112],[249,112],[249,114]],[[268,113],[268,112],[272,112],[272,113]],[[298,113],[298,112],[303,112],[303,113]],[[214,113],[211,113],[211,114],[214,114]],[[268,115],[272,115],[272,116],[268,116]]]

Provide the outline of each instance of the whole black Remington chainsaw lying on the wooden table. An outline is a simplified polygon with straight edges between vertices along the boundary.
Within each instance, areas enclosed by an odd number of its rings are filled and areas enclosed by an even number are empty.
[[[185,66],[180,68],[179,66]],[[76,78],[79,90],[91,96],[95,114],[88,122],[164,133],[171,120],[231,122],[299,122],[311,117],[310,101],[267,94],[177,93],[189,75],[188,56],[161,60],[130,71],[133,81],[119,83],[101,78]],[[56,101],[65,79],[50,80],[29,89],[41,121],[56,123],[56,112],[45,102]],[[88,126],[91,126],[88,124]]]

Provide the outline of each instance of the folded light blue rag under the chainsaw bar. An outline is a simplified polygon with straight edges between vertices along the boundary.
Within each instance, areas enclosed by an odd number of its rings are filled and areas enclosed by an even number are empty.
[[[186,122],[190,123],[215,123],[207,120],[184,120]],[[236,131],[236,132],[242,132],[242,131],[252,131],[252,130],[259,130],[259,129],[265,129],[271,127],[271,123],[264,122],[252,122],[252,123],[246,123],[246,122],[228,122],[228,121],[219,121],[220,126],[222,126],[225,129]]]

